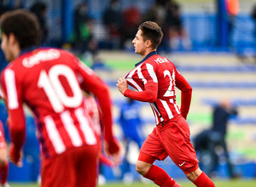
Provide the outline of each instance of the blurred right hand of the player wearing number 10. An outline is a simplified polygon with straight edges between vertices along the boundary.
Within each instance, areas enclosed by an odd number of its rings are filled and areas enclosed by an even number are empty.
[[[104,150],[107,156],[111,156],[114,165],[119,165],[123,158],[123,146],[117,139],[104,141]]]

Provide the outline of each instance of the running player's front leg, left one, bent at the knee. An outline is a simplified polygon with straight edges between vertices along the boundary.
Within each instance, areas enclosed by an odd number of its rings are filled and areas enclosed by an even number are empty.
[[[156,159],[164,160],[166,156],[166,151],[156,138],[154,129],[154,131],[149,134],[148,138],[145,140],[140,151],[140,155],[138,156],[136,166],[137,172],[143,175],[144,178],[154,181],[154,184],[159,186],[179,187],[180,185],[177,184],[165,170],[153,165]]]

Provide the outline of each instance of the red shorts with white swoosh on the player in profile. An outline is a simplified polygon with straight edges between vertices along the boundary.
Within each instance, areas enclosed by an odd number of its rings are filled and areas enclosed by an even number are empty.
[[[143,159],[147,157],[143,154],[152,156],[154,159]],[[163,161],[167,156],[172,158],[183,173],[191,173],[198,168],[199,161],[190,142],[189,124],[181,115],[176,116],[164,126],[154,127],[153,132],[143,143],[138,160],[153,163],[156,159]]]

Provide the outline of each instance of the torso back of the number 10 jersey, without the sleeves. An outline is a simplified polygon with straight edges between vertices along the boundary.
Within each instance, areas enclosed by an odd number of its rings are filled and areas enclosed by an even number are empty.
[[[84,111],[77,66],[78,59],[72,54],[41,48],[20,55],[5,70],[5,75],[15,75],[18,102],[24,101],[38,118],[44,156],[96,144]]]

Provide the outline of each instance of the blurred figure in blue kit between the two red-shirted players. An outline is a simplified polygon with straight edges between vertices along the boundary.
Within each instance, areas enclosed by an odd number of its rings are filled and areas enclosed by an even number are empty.
[[[125,158],[123,161],[123,180],[131,183],[133,175],[131,173],[131,161],[128,159],[129,145],[135,142],[139,149],[143,145],[143,120],[140,116],[141,104],[133,99],[127,99],[120,105],[119,124],[123,130],[123,140],[125,141]]]

